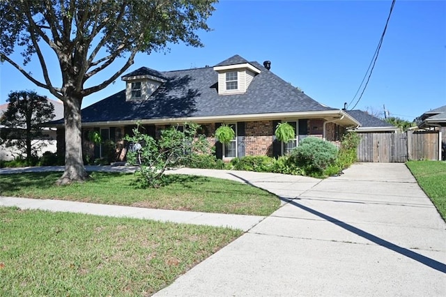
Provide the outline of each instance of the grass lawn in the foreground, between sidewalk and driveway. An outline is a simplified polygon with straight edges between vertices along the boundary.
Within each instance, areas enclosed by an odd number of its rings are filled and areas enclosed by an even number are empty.
[[[242,233],[0,207],[0,296],[148,296]]]

